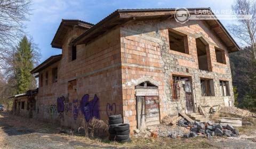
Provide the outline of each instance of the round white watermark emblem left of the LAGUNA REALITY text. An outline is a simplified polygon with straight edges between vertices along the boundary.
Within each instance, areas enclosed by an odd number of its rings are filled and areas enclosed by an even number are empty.
[[[185,23],[189,20],[190,14],[187,9],[176,9],[174,18],[177,22]]]

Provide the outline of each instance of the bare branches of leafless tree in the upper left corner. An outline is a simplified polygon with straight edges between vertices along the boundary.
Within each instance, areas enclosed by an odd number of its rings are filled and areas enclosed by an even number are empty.
[[[22,36],[23,21],[29,14],[30,0],[0,0],[0,68],[12,54],[12,47]]]

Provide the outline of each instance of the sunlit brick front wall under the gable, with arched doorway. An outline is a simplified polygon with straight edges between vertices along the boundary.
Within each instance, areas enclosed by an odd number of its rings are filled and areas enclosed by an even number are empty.
[[[188,36],[189,54],[170,50],[168,28]],[[159,84],[161,120],[165,115],[185,111],[186,101],[184,97],[181,97],[181,100],[177,102],[171,101],[169,83],[172,74],[192,77],[195,89],[193,96],[197,107],[202,105],[201,100],[203,99],[207,101],[209,106],[223,105],[224,97],[220,97],[218,88],[220,78],[229,80],[231,96],[227,98],[232,102],[234,101],[227,47],[205,22],[189,21],[181,24],[175,22],[174,19],[163,22],[132,22],[121,28],[121,35],[123,113],[125,122],[129,122],[132,129],[137,126],[134,86],[138,85],[139,80],[143,80],[145,77]],[[196,51],[196,38],[198,37],[205,39],[209,44],[209,72],[198,70]],[[227,64],[216,62],[214,46],[225,50]],[[200,77],[214,79],[215,97],[201,97]],[[150,81],[150,79],[144,80]]]

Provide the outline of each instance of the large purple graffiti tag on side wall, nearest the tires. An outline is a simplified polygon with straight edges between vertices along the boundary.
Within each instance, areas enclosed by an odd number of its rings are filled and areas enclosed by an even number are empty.
[[[84,114],[85,120],[88,122],[93,117],[100,119],[99,114],[99,98],[95,94],[92,101],[89,101],[89,95],[85,94],[80,102],[80,108]]]

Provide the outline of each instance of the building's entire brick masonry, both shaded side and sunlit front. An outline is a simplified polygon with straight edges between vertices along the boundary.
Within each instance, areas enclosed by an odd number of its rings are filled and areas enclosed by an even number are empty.
[[[187,35],[189,54],[170,50],[168,28]],[[227,47],[203,21],[191,20],[185,24],[173,19],[129,22],[109,30],[93,42],[78,45],[77,59],[70,61],[70,41],[82,32],[76,27],[70,30],[62,45],[62,59],[40,72],[40,76],[45,76],[47,71],[49,81],[48,85],[45,79],[43,85],[39,83],[36,118],[77,128],[83,126],[92,113],[106,122],[108,115],[122,114],[124,122],[135,129],[135,85],[141,82],[150,81],[158,87],[160,120],[165,115],[185,111],[182,90],[180,100],[171,100],[173,75],[191,78],[196,110],[199,106],[207,110],[211,106],[224,106],[225,98],[231,105],[234,103]],[[209,45],[210,71],[198,69],[196,38]],[[214,46],[225,50],[226,64],[217,63]],[[58,82],[52,82],[52,69],[56,67]],[[213,79],[215,96],[201,96],[201,77]],[[220,95],[219,80],[229,81],[230,96]],[[88,96],[89,106],[83,107],[82,98]],[[63,105],[58,106],[58,98]]]

